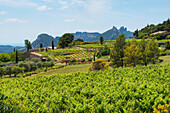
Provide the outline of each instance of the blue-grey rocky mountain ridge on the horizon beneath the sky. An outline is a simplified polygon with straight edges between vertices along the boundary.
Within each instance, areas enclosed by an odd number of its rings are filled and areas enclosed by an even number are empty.
[[[121,33],[123,33],[126,38],[133,37],[133,32],[127,31],[127,28],[125,28],[124,26],[122,26],[120,29],[117,29],[115,26],[113,26],[112,29],[109,29],[104,33],[76,32],[71,34],[74,35],[74,40],[80,38],[84,41],[98,41],[100,36],[103,36],[104,40],[115,40],[115,38]],[[43,47],[48,47],[52,45],[52,41],[54,41],[54,46],[57,46],[59,38],[60,37],[54,38],[48,34],[40,34],[38,35],[37,39],[32,43],[32,47],[39,48],[40,43],[43,44]]]

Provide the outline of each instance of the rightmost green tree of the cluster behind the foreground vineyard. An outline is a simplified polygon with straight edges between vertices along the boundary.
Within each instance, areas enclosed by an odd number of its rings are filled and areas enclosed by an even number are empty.
[[[159,58],[159,48],[158,48],[158,42],[152,38],[145,48],[145,54],[146,54],[146,62],[152,62],[153,64],[156,63],[156,61]]]

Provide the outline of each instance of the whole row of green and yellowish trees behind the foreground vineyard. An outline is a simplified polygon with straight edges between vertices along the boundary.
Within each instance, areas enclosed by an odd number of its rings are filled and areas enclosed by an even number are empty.
[[[128,67],[136,65],[155,64],[159,58],[158,42],[152,39],[142,39],[125,42],[124,34],[116,38],[113,48],[110,50],[110,65],[113,67]]]

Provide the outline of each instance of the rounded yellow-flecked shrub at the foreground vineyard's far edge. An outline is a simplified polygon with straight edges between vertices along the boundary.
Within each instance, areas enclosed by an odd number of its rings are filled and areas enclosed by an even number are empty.
[[[95,70],[105,70],[108,69],[108,65],[106,62],[104,62],[101,59],[97,59],[96,61],[93,61],[92,67],[89,68],[89,71],[95,71]]]

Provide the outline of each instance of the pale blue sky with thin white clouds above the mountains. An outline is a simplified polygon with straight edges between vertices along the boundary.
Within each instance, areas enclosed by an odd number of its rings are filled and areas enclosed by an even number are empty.
[[[170,0],[0,0],[0,44],[24,45],[41,33],[134,31],[170,18]]]

